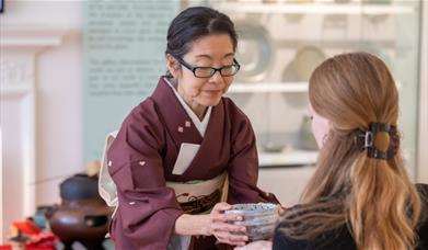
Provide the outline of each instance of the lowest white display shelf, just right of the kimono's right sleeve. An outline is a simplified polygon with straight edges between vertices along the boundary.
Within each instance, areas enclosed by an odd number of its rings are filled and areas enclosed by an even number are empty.
[[[292,150],[286,152],[261,152],[258,161],[263,167],[279,166],[308,166],[314,164],[319,156],[317,151]]]

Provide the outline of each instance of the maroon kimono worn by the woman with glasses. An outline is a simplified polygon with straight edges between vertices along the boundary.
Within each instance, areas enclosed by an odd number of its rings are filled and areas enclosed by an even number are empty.
[[[198,144],[200,148],[187,170],[175,175],[172,171],[182,143]],[[201,137],[163,78],[153,94],[125,118],[107,159],[119,203],[111,224],[116,249],[166,249],[175,219],[183,211],[165,181],[208,180],[225,170],[230,204],[278,203],[273,194],[256,186],[256,141],[242,111],[222,98],[212,107]],[[207,240],[215,241],[213,237]],[[200,249],[197,241],[200,238],[193,239],[190,248]]]

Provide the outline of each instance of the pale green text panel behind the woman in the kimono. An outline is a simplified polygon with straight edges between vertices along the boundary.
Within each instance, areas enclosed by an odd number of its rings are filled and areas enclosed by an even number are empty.
[[[107,133],[153,91],[166,70],[176,0],[84,1],[83,157],[100,159]]]

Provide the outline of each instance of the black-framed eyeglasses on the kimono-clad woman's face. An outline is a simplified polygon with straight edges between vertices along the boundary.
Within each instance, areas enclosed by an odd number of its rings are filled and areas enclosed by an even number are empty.
[[[222,77],[231,77],[236,75],[236,72],[240,70],[241,65],[236,61],[236,59],[233,59],[232,65],[223,66],[221,68],[212,68],[212,67],[193,67],[186,61],[184,61],[180,57],[175,57],[177,61],[186,67],[188,70],[190,70],[195,77],[197,78],[210,78],[212,77],[217,71],[220,72]]]

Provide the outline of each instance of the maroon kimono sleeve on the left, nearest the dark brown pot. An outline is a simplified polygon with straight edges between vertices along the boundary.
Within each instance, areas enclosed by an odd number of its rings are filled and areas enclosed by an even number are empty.
[[[160,124],[154,111],[134,110],[107,152],[119,204],[111,225],[117,249],[166,249],[183,214],[165,185]]]

